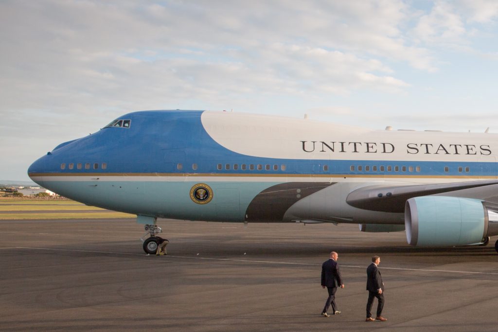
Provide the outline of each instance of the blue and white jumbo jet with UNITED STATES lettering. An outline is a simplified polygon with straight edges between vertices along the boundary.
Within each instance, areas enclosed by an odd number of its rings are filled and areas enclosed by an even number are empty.
[[[148,254],[157,218],[355,223],[405,231],[414,246],[486,245],[498,235],[498,136],[487,131],[136,111],[59,144],[28,175],[61,196],[136,215]]]

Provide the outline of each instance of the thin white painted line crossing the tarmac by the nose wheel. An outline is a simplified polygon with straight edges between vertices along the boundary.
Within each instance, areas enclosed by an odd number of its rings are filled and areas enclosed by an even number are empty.
[[[106,253],[106,254],[118,254],[118,255],[133,255],[133,256],[154,256],[138,253],[129,252],[116,252],[116,251],[97,251],[97,250],[78,250],[78,249],[55,249],[55,248],[33,248],[33,247],[3,247],[0,249],[37,249],[37,250],[53,250],[53,251],[74,251],[74,252],[93,252],[93,253]],[[191,258],[191,259],[204,259],[204,260],[218,260],[218,261],[230,261],[230,262],[244,262],[244,263],[266,263],[266,264],[283,264],[283,265],[301,265],[301,266],[321,266],[322,264],[312,264],[312,263],[292,263],[292,262],[276,262],[268,260],[250,260],[250,259],[235,259],[235,258],[210,258],[210,257],[191,257],[191,256],[174,256],[166,255],[166,258]],[[339,265],[340,267],[351,267],[351,268],[366,268],[366,266],[357,265]],[[384,270],[398,270],[398,271],[422,271],[422,272],[445,272],[445,273],[468,273],[468,274],[486,274],[486,275],[498,275],[497,272],[472,272],[472,271],[453,271],[453,270],[430,270],[430,269],[407,269],[400,267],[379,267],[379,269]]]

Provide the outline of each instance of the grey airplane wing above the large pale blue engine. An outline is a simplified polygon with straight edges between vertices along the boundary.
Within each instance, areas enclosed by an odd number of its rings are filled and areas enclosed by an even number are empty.
[[[368,186],[352,191],[348,195],[346,202],[355,208],[364,210],[403,213],[405,202],[412,197],[437,195],[455,191],[459,191],[459,194],[462,194],[458,196],[466,197],[465,191],[469,190],[469,196],[486,200],[489,195],[483,194],[483,197],[479,197],[479,193],[475,191],[471,193],[470,190],[497,184],[498,180],[480,180],[430,185]],[[494,196],[498,196],[498,186],[493,189]]]

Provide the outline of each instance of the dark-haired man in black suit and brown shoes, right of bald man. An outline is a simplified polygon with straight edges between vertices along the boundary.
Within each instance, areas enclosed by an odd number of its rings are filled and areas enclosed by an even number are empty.
[[[382,276],[380,275],[380,271],[377,268],[377,265],[380,263],[379,256],[372,257],[372,264],[367,267],[367,290],[369,291],[369,300],[367,301],[367,319],[366,322],[387,321],[383,318],[382,308],[384,307],[384,283],[382,282]],[[372,318],[371,310],[373,305],[373,298],[377,298],[377,317],[375,319]]]

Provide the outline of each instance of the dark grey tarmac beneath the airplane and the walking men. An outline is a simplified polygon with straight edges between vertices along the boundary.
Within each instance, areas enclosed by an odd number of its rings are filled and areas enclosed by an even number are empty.
[[[0,331],[497,331],[498,254],[415,248],[358,225],[159,220],[167,256],[124,220],[0,221]],[[339,253],[341,315],[320,316]],[[365,322],[366,268],[385,284]],[[376,308],[374,302],[373,312]]]

